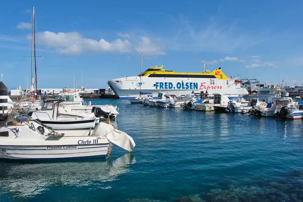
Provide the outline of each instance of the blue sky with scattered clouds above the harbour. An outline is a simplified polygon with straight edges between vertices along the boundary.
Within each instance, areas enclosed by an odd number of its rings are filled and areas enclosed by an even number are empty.
[[[115,6],[117,4],[117,6]],[[175,72],[221,67],[227,76],[303,84],[303,2],[11,1],[0,7],[0,72],[9,87],[30,77],[35,7],[39,88],[106,88],[150,64]]]

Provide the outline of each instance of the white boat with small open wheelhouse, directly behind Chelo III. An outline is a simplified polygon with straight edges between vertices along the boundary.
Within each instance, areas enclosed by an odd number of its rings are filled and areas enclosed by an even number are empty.
[[[31,117],[54,130],[94,128],[95,117],[61,118],[59,104],[62,99],[44,100],[41,110],[32,112]]]

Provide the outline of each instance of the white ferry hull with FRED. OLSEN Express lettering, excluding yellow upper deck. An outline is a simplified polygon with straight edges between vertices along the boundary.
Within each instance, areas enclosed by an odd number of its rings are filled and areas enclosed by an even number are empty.
[[[153,93],[153,97],[157,97],[158,92],[166,92],[169,94],[182,95],[193,92],[200,93],[208,91],[208,93],[220,93],[228,96],[241,96],[248,94],[245,88],[241,88],[240,84],[233,80],[208,78],[163,78],[163,77],[142,77],[142,92]],[[109,86],[116,95],[121,99],[135,98],[140,93],[139,88],[140,77],[123,77],[108,81]]]

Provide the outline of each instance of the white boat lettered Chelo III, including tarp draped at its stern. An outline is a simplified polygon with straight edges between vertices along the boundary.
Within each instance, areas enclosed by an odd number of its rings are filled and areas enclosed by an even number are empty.
[[[110,124],[95,130],[50,130],[21,115],[0,127],[0,159],[60,160],[103,158],[111,154],[112,143],[132,151],[135,143]]]

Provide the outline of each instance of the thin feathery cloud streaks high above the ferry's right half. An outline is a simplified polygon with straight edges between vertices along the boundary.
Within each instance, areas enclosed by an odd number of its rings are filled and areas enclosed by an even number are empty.
[[[238,26],[237,21],[222,22],[215,17],[203,22],[191,21],[180,14],[179,18],[169,16],[175,29],[166,38],[168,47],[175,51],[234,53],[261,43],[267,38],[262,31],[251,32]],[[174,34],[174,35],[173,35]]]

